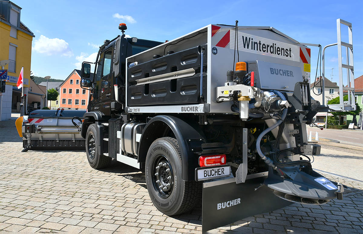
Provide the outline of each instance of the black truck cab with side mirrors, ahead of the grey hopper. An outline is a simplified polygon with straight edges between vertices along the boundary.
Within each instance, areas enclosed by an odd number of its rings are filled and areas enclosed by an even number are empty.
[[[100,47],[94,70],[90,77],[90,63],[82,63],[81,87],[92,90],[88,111],[101,112],[104,116],[122,113],[125,108],[125,69],[126,58],[141,53],[162,42],[127,38],[125,34],[105,40]],[[114,87],[118,87],[118,97],[115,97]]]

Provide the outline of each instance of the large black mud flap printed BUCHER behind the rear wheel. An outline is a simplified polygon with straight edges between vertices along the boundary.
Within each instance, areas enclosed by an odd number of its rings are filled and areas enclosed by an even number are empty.
[[[202,231],[292,204],[275,196],[267,186],[255,191],[266,177],[247,179],[240,184],[236,184],[236,178],[203,183]]]

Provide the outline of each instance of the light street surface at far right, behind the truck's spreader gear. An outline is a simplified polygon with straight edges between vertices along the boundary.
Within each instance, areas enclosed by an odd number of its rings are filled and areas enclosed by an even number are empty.
[[[320,130],[317,127],[311,128],[307,126],[307,134],[309,137],[310,131],[315,139],[315,133],[318,132],[319,137],[334,139],[341,143],[360,144],[363,146],[363,131],[360,130],[347,130],[347,129],[324,129]]]

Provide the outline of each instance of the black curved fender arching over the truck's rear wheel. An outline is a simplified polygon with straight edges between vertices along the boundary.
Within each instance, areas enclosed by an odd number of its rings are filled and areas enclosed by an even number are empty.
[[[182,179],[184,181],[195,180],[195,168],[198,165],[198,155],[192,151],[193,146],[204,143],[204,137],[197,131],[197,127],[192,127],[184,120],[175,116],[156,116],[145,126],[140,139],[138,162],[145,162],[147,151],[153,141],[160,137],[165,137],[167,128],[174,133],[179,143],[181,151]]]

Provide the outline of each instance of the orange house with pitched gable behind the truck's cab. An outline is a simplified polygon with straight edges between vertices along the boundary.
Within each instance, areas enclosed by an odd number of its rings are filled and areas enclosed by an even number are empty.
[[[91,80],[93,73],[91,73]],[[69,110],[86,110],[90,91],[81,88],[81,71],[74,69],[60,85],[60,108]]]

